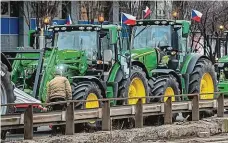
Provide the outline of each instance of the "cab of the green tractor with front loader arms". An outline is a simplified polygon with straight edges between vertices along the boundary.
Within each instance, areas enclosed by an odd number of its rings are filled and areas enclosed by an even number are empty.
[[[53,32],[52,47],[83,52],[88,66],[86,75],[104,77],[118,60],[116,25],[59,25],[48,31]]]

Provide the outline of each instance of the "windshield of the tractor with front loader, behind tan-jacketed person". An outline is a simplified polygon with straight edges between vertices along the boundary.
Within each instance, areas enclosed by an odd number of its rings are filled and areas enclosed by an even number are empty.
[[[97,52],[96,31],[58,32],[56,46],[59,50],[83,50],[89,59]]]

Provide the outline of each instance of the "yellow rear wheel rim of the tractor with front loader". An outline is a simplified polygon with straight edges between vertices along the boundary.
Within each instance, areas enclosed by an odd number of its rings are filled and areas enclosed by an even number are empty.
[[[133,97],[146,97],[146,89],[144,87],[143,81],[140,78],[134,78],[131,81],[131,84],[129,86],[128,90],[128,98]],[[138,99],[128,99],[128,104],[136,104]],[[143,103],[146,103],[146,99],[142,99]]]

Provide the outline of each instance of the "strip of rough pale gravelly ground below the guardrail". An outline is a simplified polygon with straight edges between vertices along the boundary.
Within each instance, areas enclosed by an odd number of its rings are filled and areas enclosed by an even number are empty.
[[[73,136],[37,137],[33,141],[18,141],[18,143],[152,143],[158,140],[197,137],[202,132],[207,133],[207,136],[219,134],[224,131],[225,127],[223,126],[226,124],[223,122],[225,119],[227,117],[208,118],[198,122],[178,122],[172,125],[151,126],[140,129],[77,133]]]

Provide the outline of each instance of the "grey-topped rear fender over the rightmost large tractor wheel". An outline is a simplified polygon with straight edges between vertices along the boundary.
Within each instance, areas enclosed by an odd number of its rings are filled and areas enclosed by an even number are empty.
[[[204,55],[201,55],[201,54],[192,54],[192,57],[191,57],[191,59],[190,59],[190,61],[188,63],[188,67],[187,67],[186,73],[188,73],[188,74],[192,73],[197,61],[199,59],[201,59],[201,58],[206,58],[206,59],[210,60],[207,56],[204,56]]]

